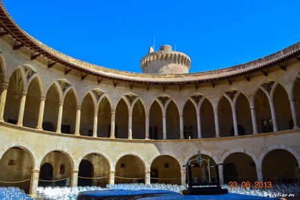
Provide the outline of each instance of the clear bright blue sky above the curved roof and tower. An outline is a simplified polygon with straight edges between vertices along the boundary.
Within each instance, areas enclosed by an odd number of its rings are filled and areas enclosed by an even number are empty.
[[[191,70],[242,64],[300,41],[300,1],[18,1],[13,19],[57,51],[112,69],[141,72],[153,45],[176,45]]]

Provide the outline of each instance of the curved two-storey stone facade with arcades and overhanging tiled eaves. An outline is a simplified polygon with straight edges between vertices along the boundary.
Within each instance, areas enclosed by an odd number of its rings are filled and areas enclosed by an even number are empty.
[[[1,185],[185,184],[198,149],[225,164],[221,182],[299,182],[300,43],[216,71],[187,73],[186,60],[183,74],[129,73],[63,55],[0,14],[0,181],[24,180]]]

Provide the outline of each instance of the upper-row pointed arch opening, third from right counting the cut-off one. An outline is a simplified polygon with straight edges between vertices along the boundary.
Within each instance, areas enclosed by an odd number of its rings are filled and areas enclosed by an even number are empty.
[[[257,120],[257,129],[259,133],[267,133],[273,131],[273,122],[270,110],[268,97],[259,89],[257,91],[255,100],[255,113]]]

